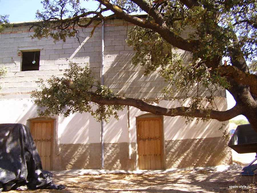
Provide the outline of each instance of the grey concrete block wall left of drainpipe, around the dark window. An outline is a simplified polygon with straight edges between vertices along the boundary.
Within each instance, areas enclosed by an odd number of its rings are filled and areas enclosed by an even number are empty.
[[[81,37],[67,38],[66,42],[54,43],[51,38],[31,39],[33,30],[29,26],[18,26],[5,29],[0,34],[0,65],[7,67],[7,76],[0,79],[3,89],[0,99],[25,99],[31,91],[37,88],[39,78],[49,79],[52,75],[62,76],[69,68],[69,61],[80,65],[89,65],[97,78],[100,77],[101,65],[101,27],[95,29],[93,37],[89,38],[83,47],[77,48],[92,28],[78,29]],[[94,45],[93,45],[94,44]],[[92,49],[93,48],[93,49]],[[21,71],[22,51],[40,50],[39,70]],[[71,56],[74,57],[71,58]]]

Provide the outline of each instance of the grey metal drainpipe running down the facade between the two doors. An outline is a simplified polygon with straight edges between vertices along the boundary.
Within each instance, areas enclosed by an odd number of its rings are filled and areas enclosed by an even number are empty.
[[[104,85],[104,51],[105,51],[105,23],[102,22],[102,61],[101,61],[101,85]],[[101,121],[101,167],[104,168],[104,136],[103,136],[103,130],[104,130],[104,122]]]

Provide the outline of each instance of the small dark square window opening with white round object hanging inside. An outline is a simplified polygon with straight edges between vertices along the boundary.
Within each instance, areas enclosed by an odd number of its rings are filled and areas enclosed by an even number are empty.
[[[21,71],[39,70],[40,51],[22,52]]]

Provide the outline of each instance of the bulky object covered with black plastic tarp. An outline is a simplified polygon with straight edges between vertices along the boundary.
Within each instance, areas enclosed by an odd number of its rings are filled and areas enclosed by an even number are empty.
[[[0,124],[0,192],[26,185],[29,189],[63,189],[42,170],[30,130],[23,124]]]

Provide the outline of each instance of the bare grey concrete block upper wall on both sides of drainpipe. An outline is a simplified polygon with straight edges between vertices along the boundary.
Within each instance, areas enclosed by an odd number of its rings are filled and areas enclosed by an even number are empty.
[[[161,97],[164,82],[157,73],[143,76],[144,68],[134,66],[131,58],[134,54],[125,39],[131,25],[120,20],[110,20],[105,24],[104,84],[119,92],[121,96],[132,98]],[[97,78],[101,66],[101,26],[95,29],[81,49],[80,43],[89,37],[91,27],[80,29],[79,41],[76,37],[66,42],[53,42],[51,38],[31,39],[33,30],[21,25],[6,29],[0,35],[0,65],[8,69],[6,78],[1,79],[3,89],[0,99],[29,98],[29,93],[37,88],[39,78],[49,79],[52,75],[61,76],[69,68],[69,61],[85,65],[89,63]],[[21,71],[22,51],[40,50],[39,71]],[[74,53],[75,56],[69,59]]]

